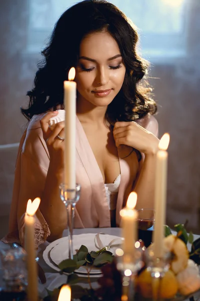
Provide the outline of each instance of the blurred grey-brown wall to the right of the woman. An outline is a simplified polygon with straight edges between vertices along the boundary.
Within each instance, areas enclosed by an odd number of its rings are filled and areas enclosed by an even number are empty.
[[[189,1],[189,0],[188,0]],[[200,233],[200,2],[189,1],[187,57],[154,65],[159,137],[170,133],[167,223]]]

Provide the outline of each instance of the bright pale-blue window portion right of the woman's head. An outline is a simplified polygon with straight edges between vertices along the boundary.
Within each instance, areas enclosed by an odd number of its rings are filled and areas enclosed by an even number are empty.
[[[120,0],[112,1],[116,6]],[[131,9],[130,9],[130,5]],[[139,29],[140,47],[147,58],[184,56],[186,2],[184,0],[127,0],[121,10]]]

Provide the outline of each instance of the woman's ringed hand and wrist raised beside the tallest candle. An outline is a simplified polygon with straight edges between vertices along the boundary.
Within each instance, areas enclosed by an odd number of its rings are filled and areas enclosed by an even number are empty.
[[[53,129],[49,128],[49,120],[58,114],[57,111],[47,112],[40,120],[43,138],[46,142],[50,165],[57,170],[63,169],[64,165],[64,143],[59,137],[64,138],[64,121],[55,124]],[[58,135],[58,136],[57,136]]]

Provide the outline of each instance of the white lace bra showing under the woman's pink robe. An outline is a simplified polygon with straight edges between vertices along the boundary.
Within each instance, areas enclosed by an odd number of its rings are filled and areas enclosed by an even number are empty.
[[[116,209],[116,200],[117,200],[117,195],[118,195],[118,190],[120,185],[120,179],[121,179],[121,175],[118,175],[114,183],[104,184],[109,210]]]

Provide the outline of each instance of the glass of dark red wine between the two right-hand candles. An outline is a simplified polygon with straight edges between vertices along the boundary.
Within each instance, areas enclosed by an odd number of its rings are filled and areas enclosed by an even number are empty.
[[[152,242],[152,226],[153,219],[139,219],[138,223],[138,239],[141,239],[147,248]]]

